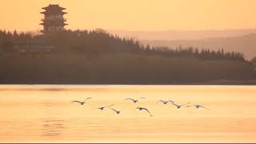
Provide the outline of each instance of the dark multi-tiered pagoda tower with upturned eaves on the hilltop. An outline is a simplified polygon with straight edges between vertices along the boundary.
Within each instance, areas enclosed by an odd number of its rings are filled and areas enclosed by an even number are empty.
[[[67,24],[65,23],[66,18],[63,16],[67,13],[63,12],[62,10],[66,10],[66,8],[58,5],[49,5],[47,7],[43,7],[42,9],[46,10],[41,12],[41,14],[44,14],[42,23],[40,23],[40,25],[43,26],[43,30],[41,30],[43,34],[51,34],[53,32],[65,30],[64,26]]]

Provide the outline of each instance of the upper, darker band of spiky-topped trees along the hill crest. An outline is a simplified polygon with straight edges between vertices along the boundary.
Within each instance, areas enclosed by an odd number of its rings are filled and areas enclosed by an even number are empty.
[[[134,38],[120,38],[105,30],[66,30],[50,35],[35,35],[31,33],[18,34],[10,31],[0,30],[2,36],[2,46],[4,51],[13,52],[14,44],[26,44],[33,39],[42,39],[48,45],[57,46],[57,52],[68,52],[78,54],[113,54],[113,53],[133,53],[133,54],[158,54],[165,57],[193,57],[205,60],[229,59],[245,62],[242,53],[225,52],[223,49],[214,51],[209,49],[201,49],[193,47],[179,46],[176,49],[170,49],[165,46],[143,46]]]

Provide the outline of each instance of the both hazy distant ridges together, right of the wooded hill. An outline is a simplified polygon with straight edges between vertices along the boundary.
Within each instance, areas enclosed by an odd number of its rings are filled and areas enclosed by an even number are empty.
[[[138,39],[146,46],[168,46],[172,49],[182,45],[210,50],[239,51],[250,60],[256,56],[256,29],[245,30],[166,30],[126,31],[109,30],[122,37]]]

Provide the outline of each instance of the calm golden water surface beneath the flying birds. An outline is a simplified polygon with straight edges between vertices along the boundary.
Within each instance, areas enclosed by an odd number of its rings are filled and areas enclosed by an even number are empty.
[[[256,86],[1,85],[0,98],[0,142],[256,142]],[[111,104],[121,113],[96,109]]]

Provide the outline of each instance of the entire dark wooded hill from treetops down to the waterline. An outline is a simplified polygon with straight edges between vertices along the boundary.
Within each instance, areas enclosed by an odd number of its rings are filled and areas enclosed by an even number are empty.
[[[105,30],[66,30],[48,35],[0,31],[2,84],[189,84],[255,78],[243,54],[196,47],[154,47]],[[50,52],[20,53],[35,39]]]

